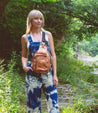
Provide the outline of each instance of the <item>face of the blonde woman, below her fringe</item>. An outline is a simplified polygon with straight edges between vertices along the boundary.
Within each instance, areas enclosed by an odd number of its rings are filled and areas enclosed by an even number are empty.
[[[37,15],[32,18],[32,27],[41,28],[43,25],[43,18],[40,15]]]

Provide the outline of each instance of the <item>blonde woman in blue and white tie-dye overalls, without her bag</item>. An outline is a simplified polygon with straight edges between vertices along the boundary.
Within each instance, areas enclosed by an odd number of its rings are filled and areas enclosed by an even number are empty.
[[[59,113],[56,73],[56,55],[52,34],[43,29],[44,17],[39,10],[32,10],[27,17],[26,34],[21,38],[22,43],[22,66],[26,75],[26,96],[28,113],[41,113],[41,89],[47,99],[49,113]],[[42,42],[42,32],[48,42],[47,48],[52,56],[52,67],[47,73],[35,74],[31,65],[31,58],[38,50]],[[28,38],[30,37],[30,39]],[[32,43],[30,43],[32,40]]]

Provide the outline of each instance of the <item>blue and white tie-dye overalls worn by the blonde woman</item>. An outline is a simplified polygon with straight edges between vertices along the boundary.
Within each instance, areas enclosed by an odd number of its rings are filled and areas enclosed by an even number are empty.
[[[41,33],[43,34],[43,33]],[[45,33],[45,35],[47,35]],[[33,42],[32,36],[28,35],[29,40],[29,60],[32,58],[33,54],[38,50],[41,42]],[[45,38],[46,40],[46,38]],[[48,40],[45,41],[48,51],[50,52],[50,47]],[[51,52],[50,52],[51,53]],[[28,66],[31,66],[31,62],[28,61]],[[26,75],[26,96],[27,96],[27,111],[28,113],[41,113],[41,89],[47,99],[48,112],[49,113],[59,113],[58,108],[58,95],[57,89],[53,85],[53,72],[52,68],[49,72],[45,74],[36,74],[29,70]]]

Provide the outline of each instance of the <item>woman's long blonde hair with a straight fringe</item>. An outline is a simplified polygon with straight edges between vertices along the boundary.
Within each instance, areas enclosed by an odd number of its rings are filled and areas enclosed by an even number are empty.
[[[42,29],[43,29],[43,26],[44,26],[44,16],[43,16],[43,14],[39,10],[31,10],[28,14],[28,17],[27,17],[26,34],[30,33],[31,27],[32,27],[31,21],[32,21],[32,18],[34,18],[35,16],[41,16],[42,17],[42,20],[43,20]]]

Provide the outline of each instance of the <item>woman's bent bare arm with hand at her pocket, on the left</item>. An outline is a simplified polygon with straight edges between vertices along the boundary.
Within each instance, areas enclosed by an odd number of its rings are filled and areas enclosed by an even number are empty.
[[[22,45],[22,66],[23,70],[27,72],[31,67],[27,67],[27,55],[28,55],[28,49],[27,49],[27,36],[23,35],[21,38],[21,45]],[[31,69],[32,70],[32,69]]]

